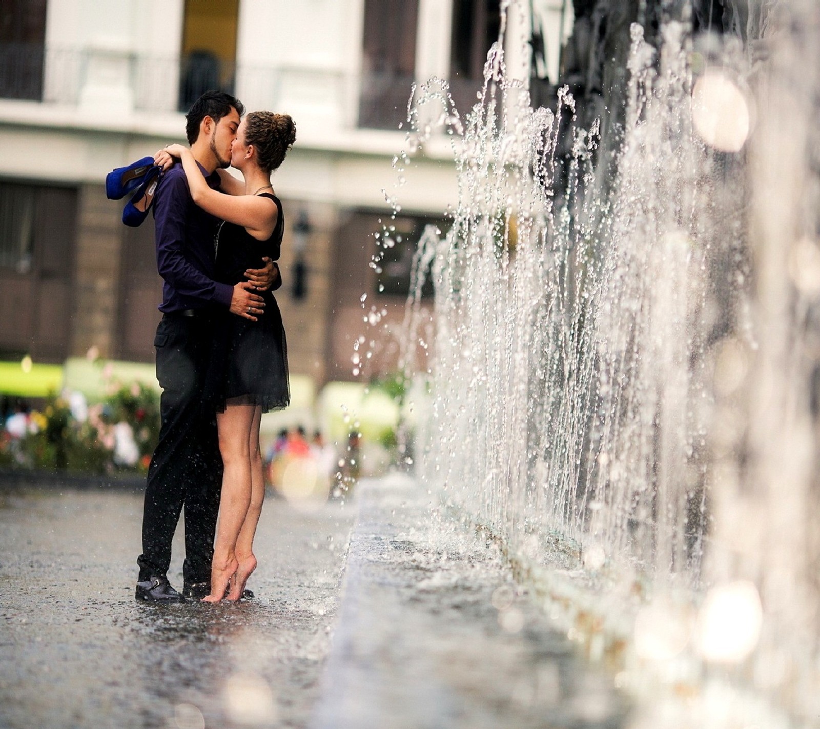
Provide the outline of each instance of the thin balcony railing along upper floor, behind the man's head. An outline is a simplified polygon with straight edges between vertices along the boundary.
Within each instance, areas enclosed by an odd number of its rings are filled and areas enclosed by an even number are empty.
[[[367,78],[333,69],[222,62],[205,53],[147,56],[119,48],[0,45],[0,98],[119,111],[185,112],[207,89],[248,109],[312,116],[322,128],[398,129],[412,78]]]

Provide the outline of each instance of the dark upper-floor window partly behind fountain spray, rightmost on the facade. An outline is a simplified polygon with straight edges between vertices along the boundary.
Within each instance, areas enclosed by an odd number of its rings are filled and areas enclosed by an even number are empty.
[[[499,0],[453,0],[450,93],[462,114],[476,103],[490,46],[499,39]]]

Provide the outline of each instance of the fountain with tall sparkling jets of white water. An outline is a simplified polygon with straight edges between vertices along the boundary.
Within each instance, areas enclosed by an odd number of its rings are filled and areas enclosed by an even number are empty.
[[[401,165],[445,132],[459,180],[405,322],[416,468],[645,697],[635,727],[816,726],[820,8],[715,4],[640,3],[611,112],[531,107],[515,0],[463,119],[416,89]]]

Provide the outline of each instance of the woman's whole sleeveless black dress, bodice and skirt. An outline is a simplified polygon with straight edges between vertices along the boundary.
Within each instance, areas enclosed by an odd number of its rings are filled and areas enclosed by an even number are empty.
[[[279,259],[285,215],[274,194],[263,193],[276,203],[279,216],[267,240],[248,235],[242,226],[225,221],[216,237],[216,280],[236,285],[248,268],[262,268],[262,257]],[[212,392],[216,407],[261,405],[262,412],[285,408],[290,402],[288,351],[282,315],[271,291],[262,292],[265,312],[250,321],[225,312],[216,327],[211,361]]]

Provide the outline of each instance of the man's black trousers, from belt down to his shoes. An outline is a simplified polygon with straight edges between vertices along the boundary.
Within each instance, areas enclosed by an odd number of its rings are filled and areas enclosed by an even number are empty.
[[[140,581],[166,576],[183,506],[185,582],[211,580],[222,480],[216,409],[204,396],[213,327],[213,317],[203,312],[166,314],[157,326],[154,346],[162,425],[148,467],[143,554],[137,560]]]

